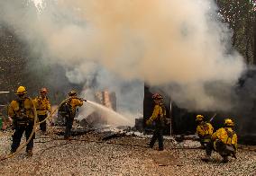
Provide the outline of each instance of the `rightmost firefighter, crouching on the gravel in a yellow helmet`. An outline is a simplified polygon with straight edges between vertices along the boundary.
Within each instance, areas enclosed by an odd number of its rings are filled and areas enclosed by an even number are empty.
[[[224,119],[224,128],[219,128],[211,137],[211,142],[206,145],[206,157],[203,161],[208,162],[212,151],[215,150],[223,157],[223,163],[228,162],[228,156],[236,158],[237,135],[233,131],[233,120]]]

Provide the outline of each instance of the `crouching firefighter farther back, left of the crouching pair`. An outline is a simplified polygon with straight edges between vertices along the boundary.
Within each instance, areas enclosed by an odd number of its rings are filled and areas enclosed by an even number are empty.
[[[204,121],[204,116],[197,115],[197,135],[199,136],[200,144],[206,148],[206,144],[211,141],[211,136],[214,133],[214,128],[210,123]]]

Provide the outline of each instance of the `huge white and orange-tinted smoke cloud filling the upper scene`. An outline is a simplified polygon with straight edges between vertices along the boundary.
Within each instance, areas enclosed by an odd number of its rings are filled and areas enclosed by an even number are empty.
[[[71,83],[88,85],[96,76],[97,86],[117,92],[128,111],[142,105],[142,83],[134,80],[162,86],[184,108],[231,108],[206,89],[221,82],[229,90],[244,69],[213,0],[44,0],[36,15],[20,2],[1,0],[1,21],[32,52],[64,66]],[[122,92],[127,82],[133,93]]]

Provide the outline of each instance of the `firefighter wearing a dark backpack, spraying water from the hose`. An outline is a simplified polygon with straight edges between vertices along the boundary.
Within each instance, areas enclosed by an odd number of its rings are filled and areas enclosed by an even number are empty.
[[[73,120],[76,116],[76,111],[78,106],[83,105],[83,99],[77,97],[76,91],[69,92],[69,100],[64,102],[59,107],[59,114],[62,118],[66,119],[66,129],[64,134],[64,139],[71,139],[71,128],[73,125]]]

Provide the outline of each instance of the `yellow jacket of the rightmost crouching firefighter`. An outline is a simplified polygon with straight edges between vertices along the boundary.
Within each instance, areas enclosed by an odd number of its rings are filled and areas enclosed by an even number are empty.
[[[219,128],[212,136],[212,140],[221,140],[224,145],[233,145],[237,149],[237,135],[232,128]]]

